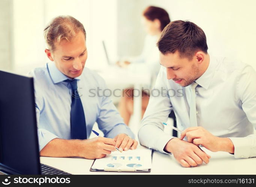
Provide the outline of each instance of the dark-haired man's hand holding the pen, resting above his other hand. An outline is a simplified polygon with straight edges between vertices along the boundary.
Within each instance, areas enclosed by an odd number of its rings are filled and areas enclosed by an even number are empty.
[[[195,145],[203,145],[210,151],[226,151],[234,153],[234,145],[229,138],[219,138],[202,127],[190,127],[181,133],[180,139],[187,137],[187,141]]]

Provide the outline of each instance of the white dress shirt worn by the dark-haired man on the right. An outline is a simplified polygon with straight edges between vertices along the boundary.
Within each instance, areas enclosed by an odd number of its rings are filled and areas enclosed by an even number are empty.
[[[256,157],[255,81],[256,72],[250,65],[212,57],[205,73],[196,80],[198,126],[217,137],[230,138],[235,158]],[[177,128],[189,128],[190,96],[189,86],[181,87],[168,80],[166,68],[162,67],[141,122],[138,133],[141,144],[165,153],[163,148],[173,137],[165,134],[162,122],[166,122],[174,110]]]

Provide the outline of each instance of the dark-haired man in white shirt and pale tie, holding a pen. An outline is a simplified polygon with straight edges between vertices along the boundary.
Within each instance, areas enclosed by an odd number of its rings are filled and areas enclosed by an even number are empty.
[[[209,162],[199,145],[235,158],[256,157],[255,70],[228,58],[210,58],[204,31],[189,21],[168,24],[157,46],[162,68],[141,122],[141,144],[172,153],[184,167]],[[174,95],[179,89],[182,96]],[[171,110],[183,130],[180,138],[163,131]]]

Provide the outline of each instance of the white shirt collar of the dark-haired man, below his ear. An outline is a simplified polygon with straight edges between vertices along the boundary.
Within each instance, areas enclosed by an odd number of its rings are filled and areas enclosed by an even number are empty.
[[[198,85],[202,86],[205,89],[208,89],[213,79],[215,68],[216,68],[216,60],[214,58],[210,58],[209,66],[207,70],[202,74],[201,77],[195,80]]]

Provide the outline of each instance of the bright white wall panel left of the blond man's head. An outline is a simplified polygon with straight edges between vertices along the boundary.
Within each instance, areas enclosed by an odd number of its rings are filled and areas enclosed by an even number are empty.
[[[13,0],[13,70],[25,73],[45,62],[43,0]]]

